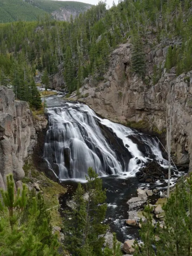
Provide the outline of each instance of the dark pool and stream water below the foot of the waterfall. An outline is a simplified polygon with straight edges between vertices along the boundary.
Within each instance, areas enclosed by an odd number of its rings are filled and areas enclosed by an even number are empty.
[[[137,196],[137,188],[141,186],[138,183],[136,177],[121,179],[113,177],[105,177],[103,180],[103,188],[107,190],[107,200],[108,205],[106,212],[106,222],[109,223],[111,232],[116,232],[117,239],[124,242],[126,239],[139,238],[139,228],[138,227],[128,227],[125,224],[125,219],[129,218],[129,206],[127,201]],[[65,181],[64,186],[68,188],[66,194],[60,197],[60,204],[62,204],[63,209],[69,209],[66,205],[66,200],[70,200],[72,194],[75,192],[77,184],[75,181]],[[85,186],[85,184],[82,184]],[[151,189],[151,188],[150,188]],[[150,202],[153,203],[158,197],[152,196],[148,197]],[[143,206],[137,208],[136,210],[142,209]],[[63,213],[61,212],[63,215]],[[64,215],[63,215],[64,216]]]

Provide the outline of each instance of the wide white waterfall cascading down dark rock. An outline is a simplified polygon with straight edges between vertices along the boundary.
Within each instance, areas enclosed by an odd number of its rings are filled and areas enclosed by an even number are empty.
[[[99,176],[133,176],[149,159],[167,164],[154,137],[102,119],[87,105],[65,103],[47,114],[44,159],[60,180],[85,179],[89,167]]]

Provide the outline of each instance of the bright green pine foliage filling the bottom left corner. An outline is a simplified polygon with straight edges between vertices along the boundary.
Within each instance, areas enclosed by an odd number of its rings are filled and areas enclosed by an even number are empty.
[[[7,191],[1,190],[0,200],[1,255],[56,256],[58,245],[41,195],[32,191],[28,196],[25,184],[15,193],[13,175],[7,176]]]

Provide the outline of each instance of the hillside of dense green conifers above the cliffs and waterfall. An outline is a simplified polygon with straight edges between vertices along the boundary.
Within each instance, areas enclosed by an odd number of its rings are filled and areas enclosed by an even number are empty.
[[[192,69],[191,27],[190,0],[126,0],[109,10],[99,2],[71,22],[46,17],[1,24],[0,84],[13,86],[16,97],[27,101],[37,70],[46,69],[49,76],[62,72],[69,92],[78,90],[89,74],[96,84],[104,79],[110,51],[128,37],[133,43],[132,72],[144,79],[143,49],[149,35],[151,48],[165,39],[175,42],[159,72],[176,66],[179,75]]]

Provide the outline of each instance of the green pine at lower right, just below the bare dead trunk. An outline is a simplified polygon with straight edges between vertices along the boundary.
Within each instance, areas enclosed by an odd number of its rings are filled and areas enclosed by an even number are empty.
[[[162,209],[165,211],[165,226],[158,228],[160,238],[157,243],[158,256],[180,256],[186,248],[186,218],[187,200],[185,184],[176,185],[175,192],[169,196]]]

